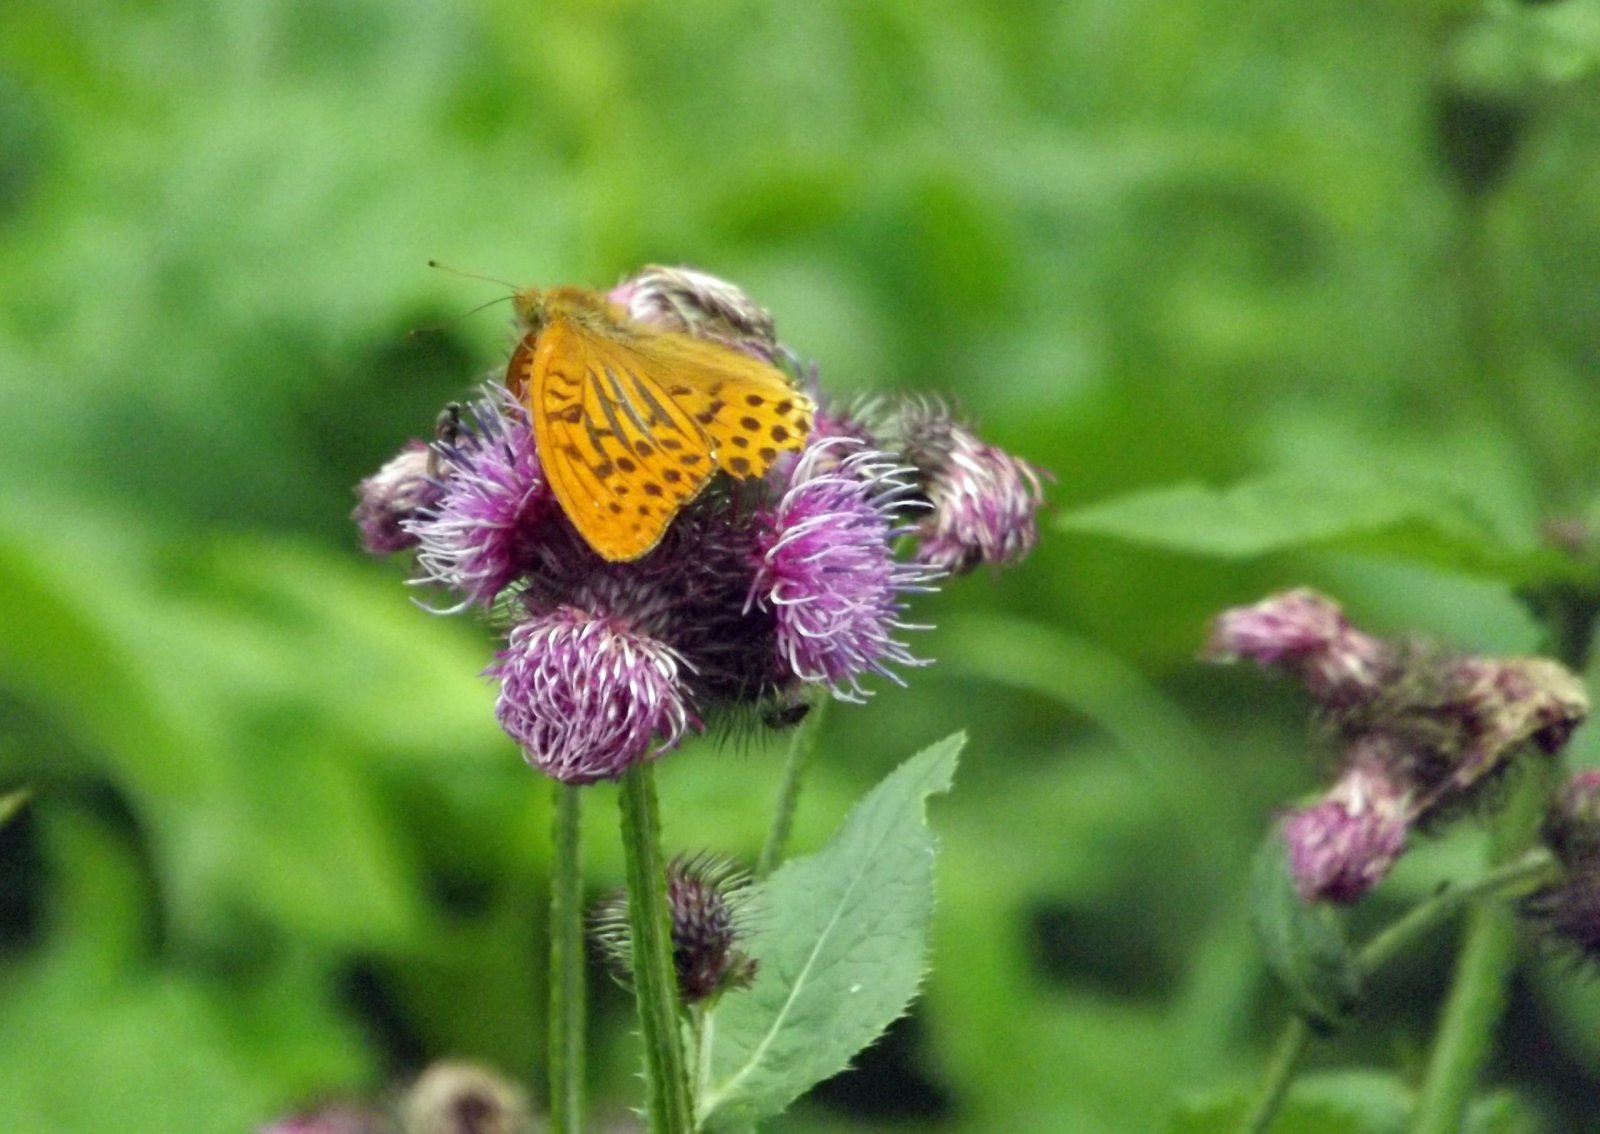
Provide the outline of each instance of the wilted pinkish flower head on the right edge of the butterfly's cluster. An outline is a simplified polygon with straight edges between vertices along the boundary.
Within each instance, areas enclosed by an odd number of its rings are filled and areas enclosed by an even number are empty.
[[[901,406],[891,432],[933,505],[918,525],[918,561],[965,574],[981,563],[1018,563],[1034,550],[1043,504],[1034,465],[986,445],[931,398]]]

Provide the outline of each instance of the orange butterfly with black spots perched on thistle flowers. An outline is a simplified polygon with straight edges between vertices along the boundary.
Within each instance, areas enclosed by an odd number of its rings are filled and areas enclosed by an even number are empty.
[[[762,477],[805,446],[814,406],[770,363],[637,323],[589,288],[526,288],[512,305],[506,385],[557,502],[606,560],[650,552],[717,470]]]

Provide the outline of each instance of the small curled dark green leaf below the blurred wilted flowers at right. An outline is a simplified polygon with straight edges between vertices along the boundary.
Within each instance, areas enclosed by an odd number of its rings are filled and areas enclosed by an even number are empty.
[[[1294,1009],[1314,1027],[1341,1024],[1362,995],[1362,976],[1338,915],[1296,892],[1278,830],[1267,835],[1256,852],[1250,920],[1267,968]]]

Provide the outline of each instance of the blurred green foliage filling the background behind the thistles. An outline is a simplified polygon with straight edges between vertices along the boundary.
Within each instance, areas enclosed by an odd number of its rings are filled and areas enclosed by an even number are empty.
[[[347,521],[509,341],[458,318],[504,291],[430,258],[714,270],[829,389],[958,398],[1062,513],[1272,475],[1448,488],[1434,528],[1493,533],[1219,558],[1074,520],[925,603],[939,664],[830,715],[795,846],[966,728],[933,969],[782,1129],[1144,1131],[1251,1083],[1286,1006],[1250,851],[1317,753],[1291,691],[1195,664],[1206,616],[1312,582],[1373,630],[1533,649],[1509,582],[1542,521],[1597,517],[1594,0],[11,0],[5,26],[0,793],[32,789],[0,829],[6,1129],[250,1129],[446,1054],[541,1083],[549,792],[493,725],[486,633],[416,609]],[[669,849],[754,857],[779,763],[672,755]],[[610,789],[587,821],[598,894]],[[1424,848],[1365,913],[1475,852]],[[1334,1118],[1304,1129],[1394,1113],[1435,944],[1318,1046],[1371,1075],[1314,1081]],[[603,982],[594,1028],[618,1112]],[[1595,1035],[1594,985],[1534,964],[1493,1113],[1581,1129]]]

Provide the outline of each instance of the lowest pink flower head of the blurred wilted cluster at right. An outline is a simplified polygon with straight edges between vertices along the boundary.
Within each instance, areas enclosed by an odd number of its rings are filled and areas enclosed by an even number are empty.
[[[1365,737],[1320,803],[1285,816],[1290,872],[1307,902],[1354,902],[1405,849],[1410,798],[1389,774],[1392,745],[1387,737]]]

